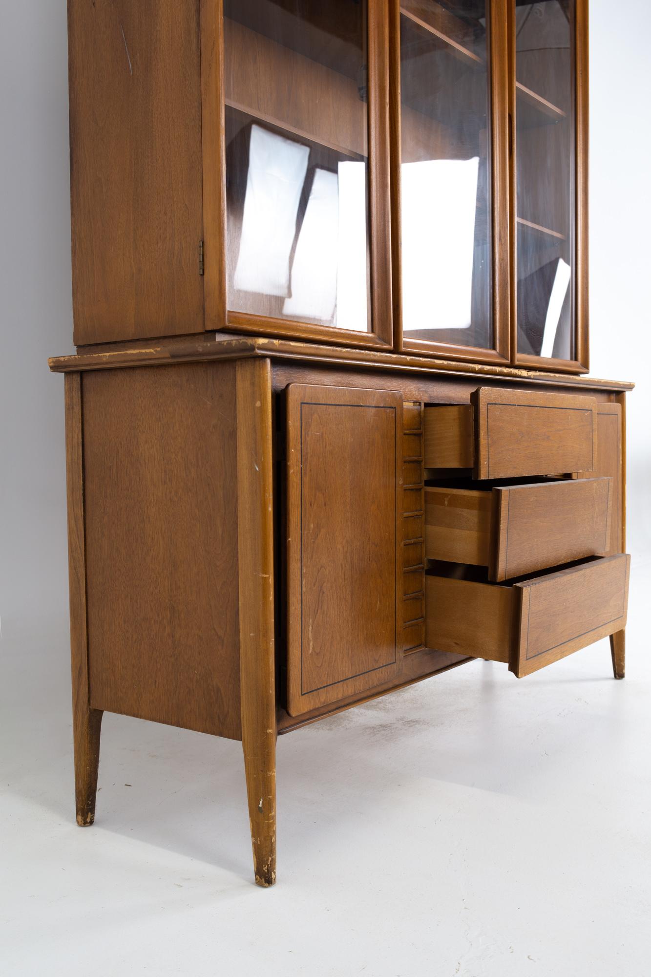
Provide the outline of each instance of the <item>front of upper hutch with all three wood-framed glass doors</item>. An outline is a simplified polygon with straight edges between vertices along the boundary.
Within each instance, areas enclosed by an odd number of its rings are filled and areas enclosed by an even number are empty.
[[[586,2],[206,3],[206,328],[586,370]]]

